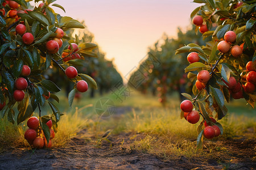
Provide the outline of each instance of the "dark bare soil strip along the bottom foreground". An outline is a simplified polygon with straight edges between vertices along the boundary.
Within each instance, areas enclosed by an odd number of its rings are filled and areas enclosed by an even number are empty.
[[[82,131],[86,133],[86,131]],[[133,134],[110,136],[101,146],[84,138],[73,138],[67,147],[35,150],[16,147],[0,153],[0,169],[254,169],[255,140],[217,141],[227,154],[217,159],[163,160],[132,150]],[[121,143],[123,142],[123,145]],[[217,157],[216,157],[217,158]]]

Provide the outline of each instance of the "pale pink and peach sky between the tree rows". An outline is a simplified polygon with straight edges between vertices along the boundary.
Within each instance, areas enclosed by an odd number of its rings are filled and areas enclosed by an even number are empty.
[[[177,27],[191,25],[192,0],[57,0],[61,16],[84,20],[95,41],[122,76],[139,65],[163,33],[176,37]]]

